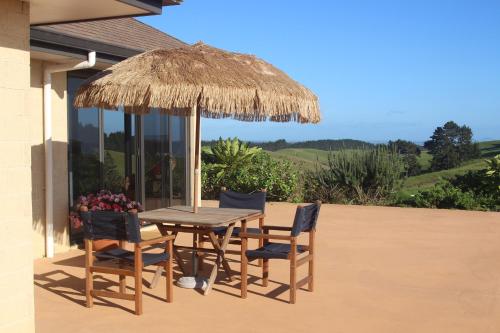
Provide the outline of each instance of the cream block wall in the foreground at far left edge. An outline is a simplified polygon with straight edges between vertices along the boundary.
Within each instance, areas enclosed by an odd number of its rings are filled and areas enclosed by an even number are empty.
[[[29,4],[0,1],[0,331],[34,332]]]

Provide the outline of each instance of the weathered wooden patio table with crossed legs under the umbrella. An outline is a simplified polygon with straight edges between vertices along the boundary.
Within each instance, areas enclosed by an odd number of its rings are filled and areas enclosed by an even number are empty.
[[[190,206],[173,206],[169,208],[161,208],[139,213],[139,219],[149,223],[156,224],[158,230],[163,236],[177,235],[179,232],[188,232],[193,234],[193,246],[179,246],[174,244],[173,255],[183,274],[186,274],[184,262],[179,255],[179,249],[190,249],[193,251],[193,275],[197,274],[197,251],[215,253],[217,259],[215,265],[208,278],[207,287],[204,290],[204,295],[207,295],[212,289],[212,285],[217,277],[217,271],[222,264],[224,271],[229,279],[232,279],[229,264],[224,255],[226,252],[229,239],[233,233],[234,226],[237,222],[241,222],[241,232],[246,232],[247,222],[262,218],[264,214],[260,210],[255,209],[235,209],[235,208],[213,208],[200,207],[198,213],[192,212]],[[222,241],[219,241],[215,235],[214,227],[227,227]],[[198,249],[198,235],[207,235],[213,245],[213,249]],[[175,241],[174,241],[175,242]],[[156,272],[152,285],[156,284],[161,270]]]

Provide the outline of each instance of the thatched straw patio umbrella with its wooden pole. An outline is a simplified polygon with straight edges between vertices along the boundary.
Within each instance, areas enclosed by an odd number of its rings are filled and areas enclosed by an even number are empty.
[[[113,65],[87,80],[75,107],[146,114],[196,113],[194,212],[198,207],[200,116],[243,121],[320,121],[318,98],[281,70],[253,56],[203,43],[158,49]]]

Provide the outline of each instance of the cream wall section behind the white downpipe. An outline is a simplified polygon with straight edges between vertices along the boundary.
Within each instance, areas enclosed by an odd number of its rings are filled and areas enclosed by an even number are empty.
[[[31,177],[33,201],[33,253],[45,254],[45,155],[43,142],[43,67],[51,63],[31,59],[29,118],[31,132]],[[52,135],[54,154],[55,251],[69,247],[68,227],[68,123],[66,73],[52,75]]]

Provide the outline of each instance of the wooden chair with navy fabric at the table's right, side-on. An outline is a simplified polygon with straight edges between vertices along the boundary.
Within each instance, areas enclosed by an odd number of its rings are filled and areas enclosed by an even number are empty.
[[[309,291],[314,290],[314,236],[316,223],[321,208],[321,202],[306,206],[298,206],[292,227],[265,225],[263,234],[240,233],[241,237],[241,297],[247,297],[247,265],[248,261],[262,259],[262,285],[267,287],[269,278],[269,259],[286,259],[290,261],[290,303],[294,304],[297,289],[308,285]],[[270,230],[290,231],[290,235],[270,234]],[[301,232],[309,233],[309,244],[298,245],[297,237]],[[256,250],[247,250],[249,238],[262,239],[264,245]],[[288,241],[275,243],[270,240]],[[307,277],[297,281],[297,267],[309,263]]]

